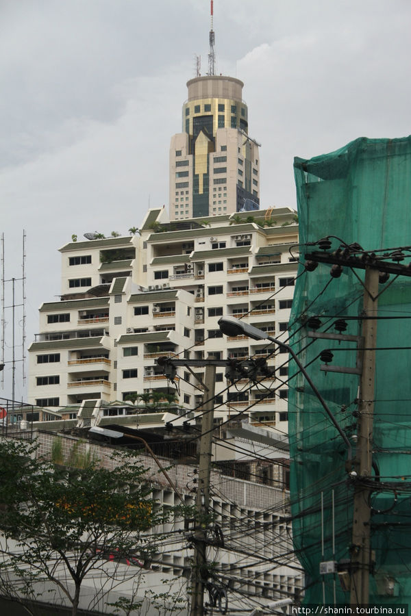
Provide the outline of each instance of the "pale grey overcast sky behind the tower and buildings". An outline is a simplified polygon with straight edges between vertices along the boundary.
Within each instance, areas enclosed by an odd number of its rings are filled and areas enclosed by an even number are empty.
[[[72,233],[127,233],[168,207],[169,142],[195,54],[207,70],[209,14],[209,0],[0,0],[0,231],[6,278],[21,276],[27,231],[27,342]],[[244,81],[262,144],[262,207],[296,207],[295,156],[408,136],[410,25],[409,0],[214,0],[217,72]],[[4,375],[10,397],[10,364]]]

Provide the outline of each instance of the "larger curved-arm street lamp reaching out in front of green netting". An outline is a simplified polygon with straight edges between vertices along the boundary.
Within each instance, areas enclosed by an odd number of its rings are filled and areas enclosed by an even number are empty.
[[[351,460],[352,448],[351,448],[351,443],[349,442],[349,439],[347,438],[347,435],[342,430],[342,428],[340,428],[338,422],[334,418],[334,415],[327,407],[327,403],[325,402],[323,396],[321,396],[319,390],[316,388],[310,376],[306,372],[306,368],[304,368],[301,361],[299,361],[297,355],[295,354],[294,350],[292,350],[290,345],[286,344],[285,342],[282,342],[281,340],[277,338],[274,338],[273,336],[267,335],[266,331],[262,331],[262,329],[258,329],[257,327],[254,327],[253,325],[249,325],[248,323],[245,323],[244,321],[236,319],[235,317],[232,317],[232,316],[221,317],[219,319],[219,326],[223,334],[227,336],[241,336],[242,335],[242,336],[248,336],[249,338],[253,338],[254,340],[270,340],[270,342],[277,344],[280,348],[284,348],[288,353],[290,353],[292,359],[294,359],[295,363],[297,363],[299,369],[301,370],[303,375],[306,377],[306,381],[310,385],[312,391],[314,392],[316,397],[321,402],[321,406],[325,410],[325,413],[327,413],[329,419],[332,421],[338,433],[340,434],[340,437],[343,439],[343,441],[347,445],[348,459]]]

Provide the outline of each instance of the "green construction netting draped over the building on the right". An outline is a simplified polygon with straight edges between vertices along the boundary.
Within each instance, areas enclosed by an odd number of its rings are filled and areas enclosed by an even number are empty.
[[[347,244],[358,242],[366,251],[411,244],[411,137],[360,138],[327,155],[296,158],[294,167],[302,262],[313,250],[304,245],[326,235],[336,235]],[[340,241],[333,239],[332,248],[338,246]],[[403,261],[408,262],[411,258]],[[336,318],[351,316],[355,318],[347,320],[345,333],[360,333],[362,285],[348,268],[338,279],[330,277],[330,268],[320,264],[314,272],[305,272],[300,264],[289,344],[351,438],[356,433],[359,377],[322,372],[319,353],[331,349],[335,365],[354,367],[356,343],[313,339],[304,325],[307,317],[319,316],[319,331],[336,333]],[[363,270],[356,273],[364,279]],[[397,347],[411,348],[411,279],[399,277],[386,287],[379,297],[378,315],[407,318],[377,322],[377,348],[395,350],[376,353],[373,461],[384,486],[392,485],[373,491],[371,499],[375,566],[369,603],[410,604],[411,350]],[[293,535],[306,570],[304,602],[321,604],[325,596],[325,603],[333,603],[335,592],[336,602],[347,604],[349,593],[343,591],[338,576],[319,573],[321,561],[350,559],[353,482],[345,470],[347,447],[292,360],[290,376]],[[396,493],[394,484],[399,484]]]

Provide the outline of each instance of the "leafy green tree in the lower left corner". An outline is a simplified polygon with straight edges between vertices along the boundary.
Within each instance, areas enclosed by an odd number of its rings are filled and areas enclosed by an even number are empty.
[[[101,575],[96,606],[114,582],[124,581],[127,567],[108,574],[107,561],[132,561],[134,577],[151,554],[144,531],[170,513],[151,498],[145,469],[129,452],[116,452],[111,470],[90,461],[55,465],[38,453],[25,441],[0,442],[0,593],[10,595],[12,585],[15,596],[33,600],[38,584],[47,582],[75,616],[84,580]]]

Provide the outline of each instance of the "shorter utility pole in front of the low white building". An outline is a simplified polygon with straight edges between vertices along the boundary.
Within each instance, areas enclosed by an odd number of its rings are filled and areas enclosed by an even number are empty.
[[[204,377],[203,417],[201,419],[201,439],[199,445],[199,483],[197,487],[197,524],[194,531],[195,562],[192,569],[190,616],[204,614],[204,587],[208,578],[206,539],[210,505],[210,466],[212,428],[214,418],[215,365],[206,365]]]

